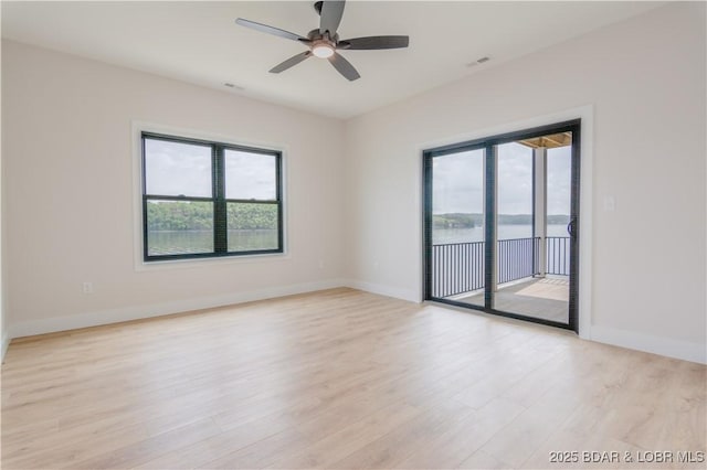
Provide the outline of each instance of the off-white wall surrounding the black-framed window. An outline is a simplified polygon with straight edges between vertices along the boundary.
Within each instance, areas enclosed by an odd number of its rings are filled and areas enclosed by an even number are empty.
[[[342,122],[7,41],[2,115],[13,337],[340,284]],[[288,254],[136,270],[134,120],[284,147]]]

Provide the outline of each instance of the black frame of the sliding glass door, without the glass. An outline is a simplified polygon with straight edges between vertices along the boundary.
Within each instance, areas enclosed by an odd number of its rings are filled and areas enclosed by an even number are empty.
[[[573,235],[570,235],[570,295],[569,295],[569,318],[567,323],[545,320],[540,318],[524,316],[519,313],[496,310],[493,306],[493,288],[495,285],[496,256],[496,209],[497,209],[497,147],[503,143],[514,142],[516,140],[531,139],[534,137],[546,136],[550,133],[572,132],[571,145],[571,205],[570,221],[573,226]],[[424,263],[423,263],[423,292],[424,300],[431,300],[441,303],[447,303],[456,307],[463,307],[472,310],[481,310],[486,313],[497,314],[500,317],[526,320],[534,323],[547,324],[550,327],[562,328],[566,330],[578,331],[579,328],[579,243],[580,243],[580,148],[581,148],[581,119],[572,119],[568,121],[523,129],[495,136],[484,137],[481,139],[468,140],[465,142],[452,143],[449,146],[437,147],[423,150],[423,245],[424,245]],[[484,306],[474,306],[456,300],[432,297],[432,162],[434,158],[443,157],[452,153],[460,153],[472,150],[484,149],[484,239],[485,239],[485,286],[484,286]],[[535,204],[534,204],[535,211]],[[535,218],[535,217],[534,217]]]

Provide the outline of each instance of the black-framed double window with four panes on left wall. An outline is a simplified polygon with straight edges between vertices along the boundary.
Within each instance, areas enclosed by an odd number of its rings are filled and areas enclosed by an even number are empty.
[[[278,151],[141,139],[146,261],[283,252]]]

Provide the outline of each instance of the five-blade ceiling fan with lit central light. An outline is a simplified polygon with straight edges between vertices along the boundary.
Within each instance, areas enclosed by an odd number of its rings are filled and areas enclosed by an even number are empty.
[[[359,73],[354,68],[354,65],[341,56],[337,51],[369,51],[379,49],[400,49],[408,47],[410,39],[408,36],[367,36],[367,38],[354,38],[349,40],[339,40],[337,29],[341,22],[341,15],[344,14],[344,0],[336,1],[318,1],[314,4],[314,9],[319,13],[319,28],[309,31],[307,36],[300,36],[299,34],[291,33],[289,31],[281,30],[278,28],[268,26],[267,24],[256,23],[255,21],[244,20],[239,18],[235,22],[242,26],[251,28],[253,30],[274,34],[276,36],[285,38],[292,41],[297,41],[307,47],[300,54],[294,55],[285,62],[275,65],[270,70],[273,74],[278,74],[293,67],[313,55],[319,58],[327,58],[334,68],[339,71],[349,81],[360,78]]]

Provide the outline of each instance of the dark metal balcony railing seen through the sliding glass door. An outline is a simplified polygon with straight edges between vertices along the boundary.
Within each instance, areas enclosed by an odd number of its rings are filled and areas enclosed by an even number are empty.
[[[540,242],[536,238],[499,239],[498,284],[540,273]],[[485,242],[432,245],[432,297],[444,298],[484,288]],[[546,273],[568,276],[569,237],[546,238]]]

